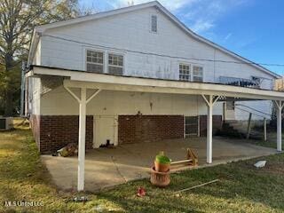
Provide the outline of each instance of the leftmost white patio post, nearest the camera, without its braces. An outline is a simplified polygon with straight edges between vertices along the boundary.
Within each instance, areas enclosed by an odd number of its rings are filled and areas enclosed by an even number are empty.
[[[85,136],[86,136],[86,88],[81,88],[79,104],[79,143],[78,143],[78,191],[83,191],[85,170]]]

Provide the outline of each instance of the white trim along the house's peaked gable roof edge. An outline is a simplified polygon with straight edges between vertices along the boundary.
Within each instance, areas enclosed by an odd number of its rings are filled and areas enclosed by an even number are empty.
[[[113,10],[113,11],[108,11],[108,12],[99,12],[99,13],[96,13],[96,14],[93,14],[93,15],[87,15],[87,16],[83,16],[83,17],[79,17],[79,18],[75,18],[75,19],[63,20],[63,21],[54,22],[54,23],[51,23],[51,24],[38,26],[34,30],[32,43],[30,45],[28,61],[29,62],[32,61],[32,58],[34,57],[34,54],[35,54],[35,51],[36,51],[36,46],[37,46],[39,37],[47,29],[65,27],[67,25],[73,25],[73,24],[77,24],[77,23],[81,23],[81,22],[89,21],[89,20],[98,20],[98,19],[101,19],[101,18],[105,18],[105,17],[117,15],[117,14],[122,14],[122,13],[126,13],[126,12],[133,12],[133,11],[137,11],[137,10],[141,10],[141,9],[146,9],[148,7],[154,7],[156,9],[160,10],[174,24],[176,24],[177,27],[183,29],[184,32],[188,36],[192,36],[197,41],[200,41],[201,43],[206,43],[209,46],[211,46],[211,47],[213,47],[213,48],[215,48],[219,51],[222,51],[225,54],[228,54],[235,59],[241,60],[241,62],[243,62],[244,64],[248,64],[252,67],[256,67],[258,70],[261,70],[266,74],[272,75],[275,78],[280,78],[280,75],[273,73],[269,69],[262,67],[262,66],[258,65],[257,63],[255,63],[251,60],[245,59],[245,58],[241,57],[240,55],[234,53],[233,51],[229,51],[229,50],[225,49],[224,47],[218,45],[217,43],[213,43],[213,42],[209,41],[208,39],[197,35],[191,29],[187,28],[184,23],[182,23],[180,20],[178,20],[177,17],[175,17],[171,12],[169,12],[165,7],[163,7],[162,4],[160,4],[157,1],[149,2],[149,3],[146,3],[146,4],[138,4],[138,5],[133,5],[133,6],[129,6],[129,7],[124,7],[124,8],[116,9],[116,10]],[[28,62],[28,64],[30,64],[29,62]]]

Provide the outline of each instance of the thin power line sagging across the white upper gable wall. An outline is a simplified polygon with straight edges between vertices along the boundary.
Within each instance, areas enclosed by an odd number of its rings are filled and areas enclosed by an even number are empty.
[[[267,66],[267,67],[284,67],[284,64],[240,62],[240,61],[219,60],[219,59],[197,59],[197,58],[186,58],[186,57],[180,57],[180,56],[170,56],[170,55],[158,54],[158,53],[154,53],[154,52],[132,51],[132,50],[128,50],[128,49],[120,49],[120,48],[105,46],[105,45],[101,45],[101,44],[80,42],[80,41],[76,41],[76,40],[69,39],[69,38],[64,38],[64,37],[59,37],[59,36],[51,36],[51,35],[47,35],[47,34],[44,34],[42,36],[48,36],[48,37],[64,40],[64,41],[67,41],[67,42],[81,43],[81,44],[84,44],[84,45],[96,46],[96,47],[99,47],[99,48],[112,49],[112,50],[115,50],[115,51],[129,51],[129,52],[133,52],[133,53],[139,53],[139,54],[144,54],[144,55],[154,55],[154,56],[160,56],[160,57],[171,58],[171,59],[191,59],[191,60],[208,61],[208,62],[220,62],[220,63],[231,63],[231,64],[248,64],[248,65]]]

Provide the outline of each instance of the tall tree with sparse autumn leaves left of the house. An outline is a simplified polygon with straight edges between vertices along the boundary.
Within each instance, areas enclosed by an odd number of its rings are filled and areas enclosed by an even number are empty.
[[[75,18],[77,0],[0,0],[0,114],[16,113],[21,61],[37,25]]]

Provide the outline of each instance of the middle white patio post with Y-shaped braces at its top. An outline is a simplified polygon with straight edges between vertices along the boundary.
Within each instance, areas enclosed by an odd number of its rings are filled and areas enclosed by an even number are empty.
[[[207,103],[208,106],[208,113],[207,113],[207,163],[212,163],[212,140],[213,140],[213,106],[217,102],[219,97],[217,96],[215,99],[212,95],[209,95],[209,99],[207,99],[204,95],[202,98]]]

